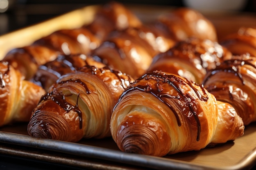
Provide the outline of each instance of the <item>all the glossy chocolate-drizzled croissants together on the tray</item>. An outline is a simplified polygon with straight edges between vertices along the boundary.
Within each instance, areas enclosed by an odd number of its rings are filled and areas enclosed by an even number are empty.
[[[9,51],[0,62],[0,126],[32,137],[112,137],[124,152],[165,156],[243,136],[256,121],[256,28],[217,40],[180,7],[142,22],[119,2],[90,24]]]

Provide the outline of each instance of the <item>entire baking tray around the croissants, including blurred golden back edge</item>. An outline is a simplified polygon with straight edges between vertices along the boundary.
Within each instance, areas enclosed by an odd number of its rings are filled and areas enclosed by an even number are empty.
[[[90,22],[97,8],[97,6],[84,7],[40,24],[0,36],[0,49],[2,50],[0,58],[9,49],[28,45],[53,31],[79,27]],[[155,6],[129,6],[129,8],[142,21],[152,20],[157,15],[173,9]],[[256,18],[251,14],[205,15],[216,25],[219,38],[224,34],[237,31],[240,26],[256,26]],[[74,20],[74,17],[77,20]],[[52,26],[53,23],[54,26]],[[222,29],[224,28],[223,23],[229,24],[230,28]],[[43,29],[45,26],[49,29]],[[223,32],[221,32],[222,30]],[[26,36],[26,41],[19,44],[20,41],[18,40],[22,40],[24,36]],[[245,170],[256,165],[255,139],[256,123],[252,123],[246,126],[243,137],[239,137],[235,141],[199,151],[153,157],[121,152],[111,137],[106,139],[82,139],[79,143],[30,137],[27,134],[27,124],[21,123],[0,128],[0,153],[90,169]]]

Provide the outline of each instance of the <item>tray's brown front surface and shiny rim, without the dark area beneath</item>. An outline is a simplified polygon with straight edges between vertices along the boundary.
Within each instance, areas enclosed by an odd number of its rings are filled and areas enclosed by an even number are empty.
[[[0,142],[27,146],[67,155],[78,156],[79,159],[100,159],[115,163],[125,163],[131,166],[153,169],[216,169],[242,170],[256,164],[256,124],[246,127],[245,135],[235,141],[229,141],[213,148],[199,151],[182,152],[165,157],[151,157],[139,154],[121,152],[112,138],[82,139],[79,143],[69,143],[50,139],[38,139],[27,135],[26,124],[5,126],[0,128]],[[29,151],[27,152],[29,154]],[[16,153],[19,155],[19,153]],[[72,157],[73,161],[76,157]],[[78,159],[78,158],[77,158]],[[46,160],[47,161],[47,160]],[[62,163],[68,163],[69,159]]]

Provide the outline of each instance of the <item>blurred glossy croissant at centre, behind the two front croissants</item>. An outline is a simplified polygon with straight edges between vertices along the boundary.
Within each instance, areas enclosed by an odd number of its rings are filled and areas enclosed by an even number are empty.
[[[155,51],[136,35],[135,29],[113,31],[92,52],[92,58],[133,78],[143,75],[152,62]]]

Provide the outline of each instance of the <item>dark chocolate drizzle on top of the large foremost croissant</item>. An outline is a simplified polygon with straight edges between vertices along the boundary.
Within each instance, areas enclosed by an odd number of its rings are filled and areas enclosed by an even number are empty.
[[[139,82],[141,80],[147,81],[150,79],[154,79],[156,81],[157,89],[152,88],[151,84],[149,84],[149,83],[146,83],[146,85],[137,84],[137,82]],[[178,95],[174,96],[171,94],[162,93],[162,91],[164,89],[162,88],[161,82],[167,83],[170,86],[172,86],[175,89],[175,91],[178,92]],[[184,93],[181,85],[189,85],[193,89],[193,91],[197,94],[197,96],[200,100],[207,102],[208,95],[206,94],[206,92],[204,91],[204,88],[202,86],[200,86],[200,88],[202,89],[203,94],[201,94],[201,92],[193,86],[193,83],[189,82],[187,79],[185,81],[175,75],[167,75],[160,71],[154,71],[153,73],[147,73],[147,74],[143,75],[142,77],[140,77],[139,79],[135,80],[135,82],[133,82],[124,91],[124,93],[120,96],[119,102],[125,95],[127,95],[128,93],[130,93],[132,91],[138,90],[138,91],[144,91],[146,93],[151,93],[153,96],[157,97],[161,102],[166,104],[166,106],[168,106],[173,111],[173,113],[175,114],[175,117],[177,119],[178,126],[181,126],[181,122],[180,122],[177,111],[166,101],[166,98],[182,100],[186,104],[186,106],[189,107],[189,110],[190,110],[190,112],[186,116],[188,118],[190,118],[192,116],[195,118],[195,121],[198,126],[197,141],[199,141],[201,125],[200,125],[200,120],[198,118],[198,114],[196,113],[196,110],[195,110],[195,104],[196,104],[195,99],[189,93]],[[195,84],[195,85],[197,85],[197,84]],[[116,104],[116,106],[118,105],[118,103]],[[115,110],[116,106],[114,107],[114,110]]]

